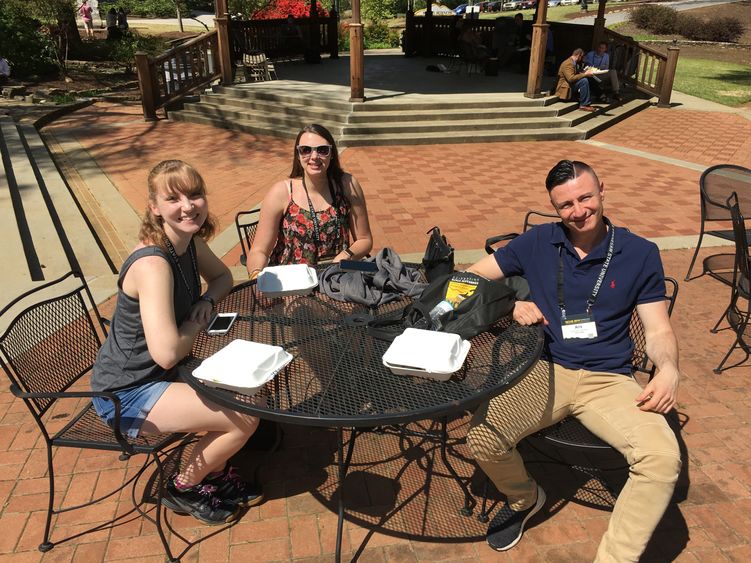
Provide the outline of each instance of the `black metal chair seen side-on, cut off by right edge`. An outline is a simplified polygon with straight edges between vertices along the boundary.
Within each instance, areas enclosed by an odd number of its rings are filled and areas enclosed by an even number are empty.
[[[721,373],[723,369],[730,367],[737,367],[746,362],[749,355],[751,355],[751,346],[749,346],[747,339],[751,335],[746,334],[749,329],[749,317],[751,317],[751,265],[749,265],[748,255],[748,231],[746,230],[746,221],[741,213],[738,195],[735,192],[728,198],[727,205],[730,209],[733,235],[735,237],[735,268],[733,270],[732,283],[730,284],[730,304],[725,309],[713,332],[717,331],[719,323],[726,318],[730,328],[735,333],[735,341],[727,351],[727,354],[725,354],[725,357],[722,358],[722,361],[714,369],[715,373]],[[741,300],[746,301],[745,308],[740,305]],[[728,361],[730,355],[737,348],[743,350],[745,354],[744,358],[731,366],[724,367],[725,362]]]

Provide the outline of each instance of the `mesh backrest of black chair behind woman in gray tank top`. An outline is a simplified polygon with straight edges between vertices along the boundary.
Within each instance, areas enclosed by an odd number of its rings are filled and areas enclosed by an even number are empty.
[[[106,334],[86,280],[68,274],[20,295],[0,319],[20,312],[0,336],[0,365],[20,391],[59,393],[88,373]],[[24,399],[37,419],[54,399]]]

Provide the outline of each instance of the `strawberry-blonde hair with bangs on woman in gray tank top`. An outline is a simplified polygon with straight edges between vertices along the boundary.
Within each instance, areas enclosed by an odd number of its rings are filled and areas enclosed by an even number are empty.
[[[181,194],[190,194],[198,189],[204,197],[206,196],[206,184],[198,171],[190,164],[182,160],[163,160],[149,172],[149,204],[146,205],[141,221],[141,231],[138,238],[144,244],[153,244],[164,246],[164,219],[154,215],[151,211],[151,205],[156,203],[156,196],[159,192],[178,192]],[[208,240],[214,236],[217,229],[216,219],[208,214],[206,220],[198,231],[198,236]]]

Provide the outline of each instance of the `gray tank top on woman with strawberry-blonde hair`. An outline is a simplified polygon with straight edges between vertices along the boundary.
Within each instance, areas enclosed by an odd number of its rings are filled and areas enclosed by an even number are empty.
[[[139,248],[128,256],[120,269],[117,280],[117,304],[107,339],[99,350],[94,369],[91,374],[91,389],[93,391],[116,391],[128,387],[136,387],[151,381],[169,380],[171,374],[159,366],[149,354],[146,337],[143,332],[141,309],[137,299],[133,299],[123,292],[123,279],[133,263],[144,256],[161,256],[172,269],[174,280],[174,308],[175,320],[179,327],[190,311],[200,293],[200,280],[194,280],[191,251],[195,254],[193,241],[190,249],[178,257],[180,268],[188,283],[194,287],[191,298],[182,276],[172,262],[169,254],[158,246]]]

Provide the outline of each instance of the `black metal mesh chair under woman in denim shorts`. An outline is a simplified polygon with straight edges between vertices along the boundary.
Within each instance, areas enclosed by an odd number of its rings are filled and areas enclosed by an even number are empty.
[[[115,525],[133,510],[156,524],[167,556],[172,559],[169,542],[162,530],[161,485],[164,480],[165,448],[185,438],[184,434],[143,436],[135,440],[119,430],[120,404],[113,393],[89,389],[88,378],[106,334],[106,322],[99,314],[83,275],[70,272],[20,295],[2,311],[0,322],[7,325],[0,336],[0,365],[10,379],[10,391],[23,400],[39,426],[47,449],[49,504],[39,551],[56,544]],[[95,396],[115,402],[115,428],[97,416],[91,403]],[[64,420],[63,420],[64,419]],[[55,508],[53,448],[83,448],[120,452],[125,461],[135,454],[146,454],[143,466],[114,491],[89,502]],[[141,507],[135,498],[135,486],[153,462],[157,468],[156,517]],[[50,540],[52,516],[90,506],[109,498],[130,484],[134,509],[111,522],[93,526],[64,539]]]

